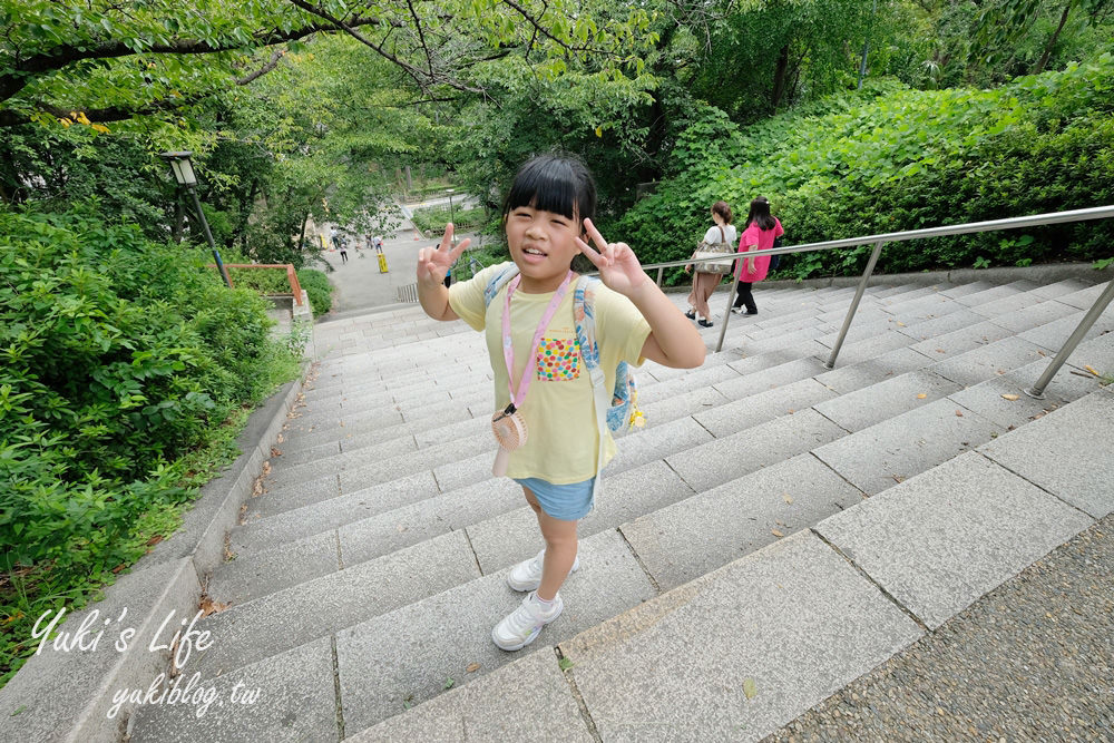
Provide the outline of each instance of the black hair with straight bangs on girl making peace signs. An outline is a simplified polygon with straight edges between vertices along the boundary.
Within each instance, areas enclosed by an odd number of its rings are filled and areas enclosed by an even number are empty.
[[[539,155],[518,168],[502,205],[504,222],[519,206],[584,224],[596,218],[596,182],[584,163],[570,155]]]

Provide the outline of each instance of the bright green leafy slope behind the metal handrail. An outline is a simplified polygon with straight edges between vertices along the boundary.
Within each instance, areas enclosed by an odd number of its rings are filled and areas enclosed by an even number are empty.
[[[885,89],[742,131],[706,110],[678,140],[675,177],[628,212],[616,234],[652,263],[687,256],[720,198],[745,216],[751,198],[766,196],[789,244],[1114,201],[1111,55],[996,90]],[[971,265],[980,256],[988,265],[1092,260],[1108,253],[1112,235],[1104,221],[912,241],[888,246],[879,270]],[[868,255],[860,247],[786,256],[782,270],[857,273]]]

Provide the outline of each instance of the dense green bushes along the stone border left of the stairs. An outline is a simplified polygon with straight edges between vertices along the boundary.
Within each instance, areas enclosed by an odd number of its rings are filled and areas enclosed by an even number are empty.
[[[0,209],[0,683],[35,618],[173,531],[245,405],[296,375],[266,300],[208,260],[92,213]]]

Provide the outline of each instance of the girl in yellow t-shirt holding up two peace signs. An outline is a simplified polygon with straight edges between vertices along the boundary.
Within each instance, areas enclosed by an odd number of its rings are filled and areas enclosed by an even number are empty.
[[[586,255],[604,283],[593,307],[607,390],[614,388],[619,361],[637,365],[652,359],[682,369],[704,362],[696,329],[646,276],[626,243],[604,239],[592,223],[595,208],[595,183],[578,160],[544,155],[519,168],[502,218],[510,257],[520,273],[490,304],[485,290],[505,266],[486,268],[451,289],[442,283],[469,243],[452,247],[451,224],[439,247],[418,254],[422,309],[436,320],[461,319],[486,333],[495,371],[492,418],[514,401],[525,421],[526,441],[509,453],[507,476],[522,486],[546,547],[508,576],[511,588],[529,593],[491,632],[505,651],[530,644],[560,615],[558,589],[578,566],[577,520],[593,506],[600,432],[592,380],[576,339],[573,258]],[[600,468],[615,454],[610,433],[604,436]]]

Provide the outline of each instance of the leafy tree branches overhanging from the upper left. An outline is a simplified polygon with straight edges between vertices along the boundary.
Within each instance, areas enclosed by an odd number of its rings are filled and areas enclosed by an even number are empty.
[[[147,116],[163,120],[274,69],[290,45],[343,32],[422,90],[480,92],[463,79],[506,48],[539,57],[595,55],[633,62],[645,13],[597,23],[570,0],[390,3],[323,0],[170,0],[0,3],[0,126]],[[270,56],[253,52],[272,48]],[[294,49],[296,50],[296,43]]]

